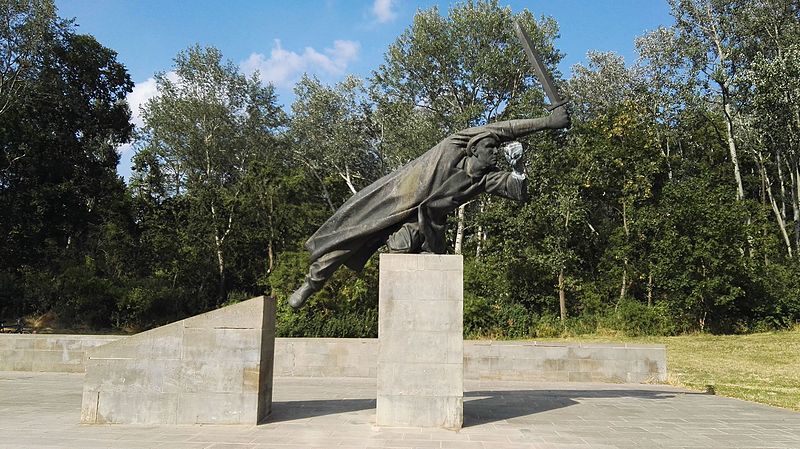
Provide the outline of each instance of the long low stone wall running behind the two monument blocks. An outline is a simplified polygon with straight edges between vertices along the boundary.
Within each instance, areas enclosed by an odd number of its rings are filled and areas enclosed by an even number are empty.
[[[86,349],[115,335],[0,334],[0,371],[83,372]],[[413,351],[414,348],[409,348]],[[277,338],[275,376],[376,377],[378,340]],[[663,382],[663,345],[464,342],[464,379]]]

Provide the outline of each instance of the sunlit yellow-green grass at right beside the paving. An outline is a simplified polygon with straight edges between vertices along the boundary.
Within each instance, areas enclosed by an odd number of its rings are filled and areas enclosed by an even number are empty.
[[[608,341],[581,336],[574,341]],[[667,346],[668,383],[800,411],[800,328],[749,335],[613,338]]]

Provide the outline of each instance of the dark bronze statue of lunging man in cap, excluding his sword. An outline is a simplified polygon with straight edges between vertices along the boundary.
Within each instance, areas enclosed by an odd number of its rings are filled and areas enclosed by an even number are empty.
[[[501,144],[570,125],[566,105],[549,116],[478,126],[448,136],[425,154],[353,195],[306,242],[311,267],[289,298],[298,308],[341,265],[360,271],[383,245],[392,252],[445,252],[447,214],[487,192],[522,201],[527,179],[518,142],[506,147],[512,172],[497,168]]]

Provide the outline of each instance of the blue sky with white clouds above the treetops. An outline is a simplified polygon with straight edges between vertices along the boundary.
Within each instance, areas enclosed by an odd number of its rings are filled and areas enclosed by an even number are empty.
[[[59,15],[75,18],[78,31],[115,50],[136,83],[129,101],[155,93],[153,74],[169,71],[175,55],[196,43],[219,48],[244,71],[259,69],[288,106],[292,86],[304,73],[332,83],[347,74],[362,78],[383,61],[387,46],[418,9],[454,2],[409,0],[57,0]],[[589,50],[613,51],[633,62],[633,40],[670,25],[666,0],[501,1],[514,12],[528,9],[554,17],[561,29],[561,71],[585,61]],[[139,122],[140,123],[140,122]],[[118,171],[130,174],[130,146],[121,149]]]

